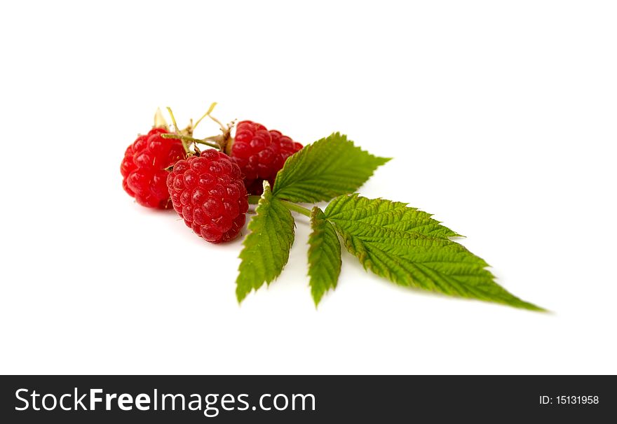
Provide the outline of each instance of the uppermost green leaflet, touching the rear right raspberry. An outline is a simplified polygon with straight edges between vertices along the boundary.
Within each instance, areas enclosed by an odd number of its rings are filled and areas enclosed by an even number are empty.
[[[292,202],[315,203],[355,192],[386,157],[373,156],[338,132],[309,144],[285,161],[273,195]]]

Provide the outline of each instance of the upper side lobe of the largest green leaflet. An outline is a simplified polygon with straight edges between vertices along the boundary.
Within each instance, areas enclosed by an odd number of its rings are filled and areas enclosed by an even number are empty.
[[[461,236],[431,218],[430,213],[410,208],[405,203],[367,199],[357,194],[333,199],[325,209],[325,215],[329,219],[353,222],[363,233],[374,228],[387,228],[438,239]]]

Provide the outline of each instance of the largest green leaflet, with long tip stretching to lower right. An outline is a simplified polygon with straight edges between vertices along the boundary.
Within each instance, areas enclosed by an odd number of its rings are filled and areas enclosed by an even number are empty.
[[[400,285],[543,310],[495,283],[487,262],[447,239],[451,230],[417,209],[401,211],[401,204],[384,206],[384,202],[389,201],[344,196],[334,199],[325,210],[346,249],[365,269]]]

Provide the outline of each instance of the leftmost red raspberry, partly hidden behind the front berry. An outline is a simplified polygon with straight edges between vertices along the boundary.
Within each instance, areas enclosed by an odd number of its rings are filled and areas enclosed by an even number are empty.
[[[170,167],[184,157],[182,142],[178,139],[163,139],[166,129],[154,128],[137,140],[124,153],[120,166],[123,176],[122,187],[142,206],[169,209],[171,206],[167,190],[167,176]]]

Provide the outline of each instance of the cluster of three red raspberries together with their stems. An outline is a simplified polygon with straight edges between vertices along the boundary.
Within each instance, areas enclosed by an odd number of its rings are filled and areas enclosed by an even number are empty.
[[[231,128],[212,116],[223,134],[198,140],[192,123],[179,131],[170,115],[173,135],[163,137],[170,132],[158,110],[154,129],[126,149],[120,167],[124,190],[142,206],[173,206],[195,234],[211,243],[234,239],[245,224],[248,194],[261,195],[263,181],[273,184],[287,157],[302,145],[249,120],[238,123],[232,138]],[[214,149],[200,152],[199,143]]]

